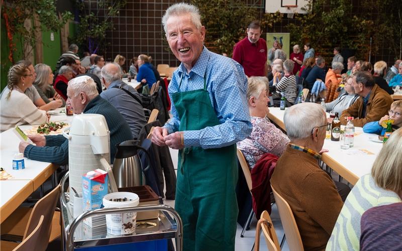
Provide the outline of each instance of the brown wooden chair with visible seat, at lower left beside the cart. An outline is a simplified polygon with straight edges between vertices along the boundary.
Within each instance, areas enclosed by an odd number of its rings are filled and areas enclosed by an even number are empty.
[[[27,238],[38,225],[40,216],[44,216],[43,226],[40,230],[41,239],[38,250],[45,250],[48,243],[61,236],[60,212],[55,211],[60,196],[60,185],[54,188],[45,197],[40,199],[33,208],[17,208],[1,225],[1,233]],[[3,243],[3,241],[2,241]],[[3,248],[2,248],[3,250]]]

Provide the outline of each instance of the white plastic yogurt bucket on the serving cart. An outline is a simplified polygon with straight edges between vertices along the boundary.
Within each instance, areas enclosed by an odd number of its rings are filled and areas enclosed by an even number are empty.
[[[123,201],[127,199],[127,201]],[[112,200],[112,201],[111,201]],[[122,200],[122,201],[115,201]],[[138,206],[140,197],[135,193],[117,192],[105,195],[103,204],[105,208]],[[106,215],[106,228],[109,234],[128,234],[135,231],[137,212],[114,213]]]

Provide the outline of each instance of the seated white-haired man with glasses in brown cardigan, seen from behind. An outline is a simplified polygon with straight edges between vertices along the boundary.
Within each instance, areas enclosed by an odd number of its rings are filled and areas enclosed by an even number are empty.
[[[318,165],[330,126],[319,104],[301,103],[283,118],[290,143],[276,163],[272,187],[289,204],[306,250],[325,249],[350,188]],[[337,188],[338,187],[338,188]]]

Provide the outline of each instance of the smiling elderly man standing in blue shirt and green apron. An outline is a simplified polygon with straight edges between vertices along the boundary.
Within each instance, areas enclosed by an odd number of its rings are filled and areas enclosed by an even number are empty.
[[[152,142],[180,149],[175,209],[184,250],[234,250],[236,142],[252,130],[247,78],[240,64],[204,47],[196,7],[175,4],[162,24],[181,64],[168,88],[172,118],[154,129]]]

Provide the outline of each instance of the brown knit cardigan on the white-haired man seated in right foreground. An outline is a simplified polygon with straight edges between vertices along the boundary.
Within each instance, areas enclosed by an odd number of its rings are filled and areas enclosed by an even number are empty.
[[[318,160],[287,146],[271,185],[292,209],[305,250],[324,250],[343,202]]]

